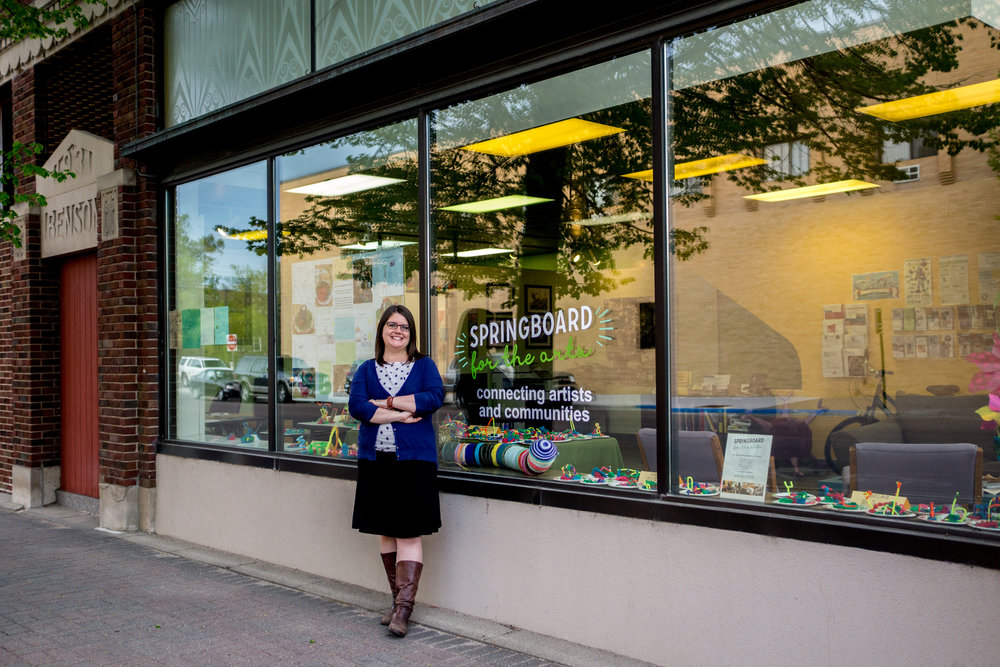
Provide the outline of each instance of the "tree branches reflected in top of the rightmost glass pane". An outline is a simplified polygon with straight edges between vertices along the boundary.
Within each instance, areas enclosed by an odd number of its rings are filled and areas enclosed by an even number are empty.
[[[701,64],[704,70],[726,71],[734,57],[752,54],[758,43],[779,44],[774,53],[796,53],[810,26],[829,27],[836,16],[836,34],[813,34],[810,44],[832,44],[871,28],[871,17],[901,13],[909,3],[878,2],[805,3],[794,8],[798,22],[779,25],[775,16],[758,17],[729,40],[727,49],[706,50],[717,62]],[[787,22],[788,17],[782,16]],[[738,74],[673,92],[673,131],[678,161],[728,153],[759,154],[764,146],[801,141],[812,155],[821,156],[809,171],[814,182],[848,178],[892,181],[899,171],[882,162],[885,140],[910,142],[955,155],[971,148],[996,145],[987,135],[1000,124],[1000,105],[952,111],[903,122],[889,122],[856,111],[859,107],[904,99],[962,85],[957,76],[950,85],[932,86],[929,74],[953,72],[962,52],[962,26],[970,31],[990,30],[972,19],[914,30],[887,39],[833,48],[780,67],[761,65]],[[742,27],[742,26],[741,26]],[[790,29],[791,28],[791,29]],[[781,41],[788,44],[781,46]],[[750,191],[780,189],[782,181],[803,184],[802,176],[789,176],[767,165],[725,172],[726,178]],[[696,197],[695,197],[696,198]]]

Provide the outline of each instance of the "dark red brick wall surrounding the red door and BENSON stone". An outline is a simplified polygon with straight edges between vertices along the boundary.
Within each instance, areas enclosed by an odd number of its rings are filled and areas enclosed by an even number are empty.
[[[118,146],[156,129],[154,28],[153,10],[138,3],[11,84],[13,138],[43,144],[38,164],[69,130],[82,129],[115,142],[116,169],[140,173],[137,184],[118,188],[118,237],[97,248],[96,354],[100,481],[146,487],[155,486],[159,424],[156,183],[141,165],[122,159]],[[18,189],[34,191],[34,179]],[[0,492],[6,493],[13,464],[60,459],[61,261],[41,259],[39,216],[26,227],[25,259],[15,261],[12,246],[0,244]]]

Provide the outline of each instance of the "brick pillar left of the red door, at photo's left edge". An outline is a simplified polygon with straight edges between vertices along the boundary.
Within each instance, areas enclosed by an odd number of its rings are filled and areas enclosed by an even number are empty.
[[[44,142],[36,73],[15,76],[11,89],[14,140]],[[22,179],[18,192],[34,185]],[[59,484],[59,273],[41,260],[39,212],[20,212],[22,247],[0,244],[0,488],[35,507],[55,502]]]

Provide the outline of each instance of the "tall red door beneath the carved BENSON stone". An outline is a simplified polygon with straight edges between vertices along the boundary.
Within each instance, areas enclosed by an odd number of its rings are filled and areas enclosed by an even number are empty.
[[[59,283],[62,490],[98,497],[97,255],[62,265]]]

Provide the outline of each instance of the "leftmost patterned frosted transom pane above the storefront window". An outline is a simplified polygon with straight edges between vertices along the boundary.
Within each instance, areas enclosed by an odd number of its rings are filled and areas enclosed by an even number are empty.
[[[309,73],[309,0],[181,0],[164,16],[167,127]]]

